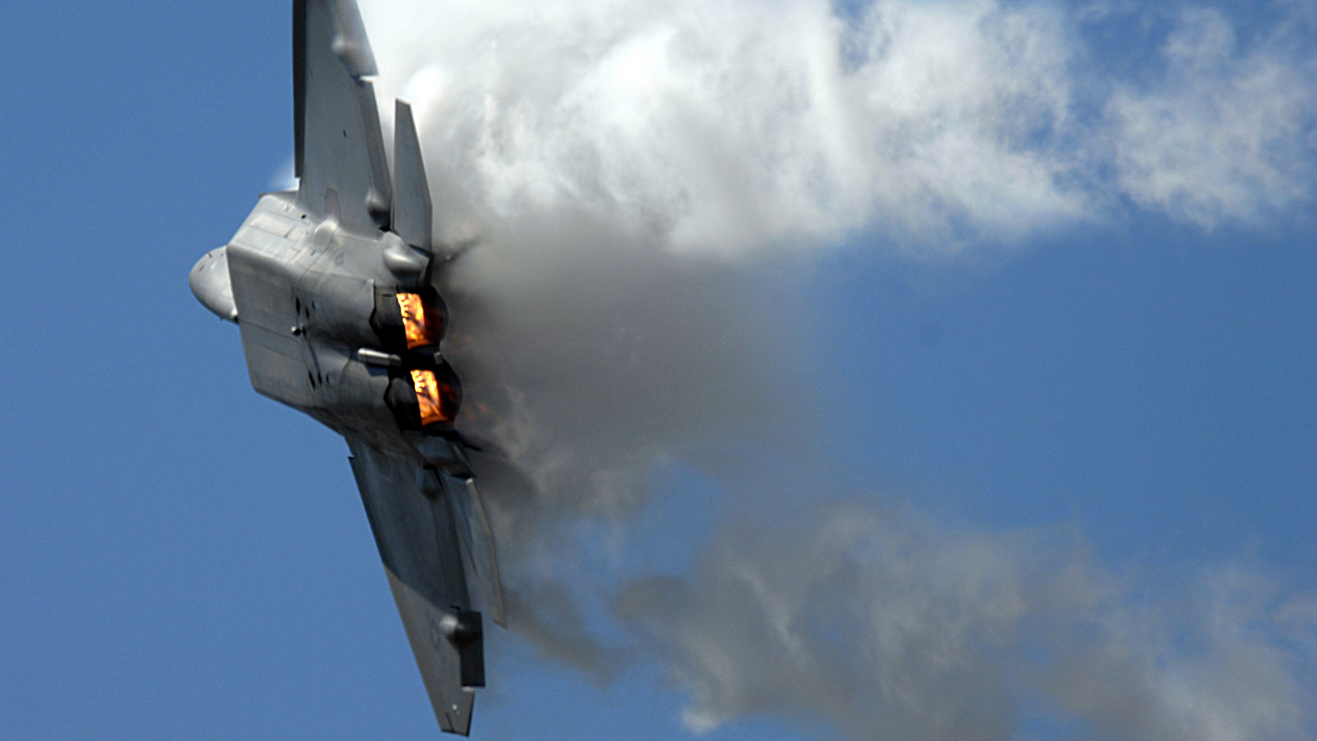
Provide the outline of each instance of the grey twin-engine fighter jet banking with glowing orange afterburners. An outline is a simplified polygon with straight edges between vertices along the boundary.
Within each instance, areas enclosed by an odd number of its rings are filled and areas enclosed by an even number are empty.
[[[475,597],[504,625],[498,556],[444,359],[444,260],[411,108],[390,179],[353,0],[294,0],[296,190],[259,196],[188,277],[238,326],[252,386],[341,434],[440,726],[468,734],[485,686]]]

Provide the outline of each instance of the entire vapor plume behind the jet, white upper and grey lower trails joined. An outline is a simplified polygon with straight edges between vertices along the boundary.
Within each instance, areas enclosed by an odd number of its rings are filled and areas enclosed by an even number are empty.
[[[618,655],[578,599],[581,523],[624,548],[657,461],[744,487],[730,451],[826,423],[786,349],[807,281],[765,265],[874,232],[950,258],[1130,204],[1260,224],[1312,196],[1299,3],[1247,36],[1213,9],[1101,3],[361,4],[381,109],[412,103],[457,254],[445,351],[487,444],[512,626],[599,678]],[[1169,32],[1130,42],[1147,69],[1084,42],[1150,18]],[[954,531],[815,485],[790,531],[744,513],[691,574],[595,588],[689,691],[691,729],[774,713],[1011,738],[1040,707],[1100,736],[1305,736],[1317,603],[1260,571],[1160,589],[1077,537]]]

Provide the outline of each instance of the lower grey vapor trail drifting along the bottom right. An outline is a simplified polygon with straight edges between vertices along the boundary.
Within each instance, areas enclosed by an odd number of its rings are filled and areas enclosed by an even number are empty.
[[[856,505],[789,519],[731,526],[691,576],[619,599],[690,691],[691,729],[772,713],[852,738],[1001,740],[1033,705],[1096,737],[1309,737],[1313,603],[1258,570],[1176,584],[1106,572],[1064,531]]]

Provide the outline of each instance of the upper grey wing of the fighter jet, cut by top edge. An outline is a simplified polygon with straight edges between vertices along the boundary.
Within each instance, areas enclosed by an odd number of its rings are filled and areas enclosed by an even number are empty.
[[[353,0],[294,0],[298,203],[365,236],[389,225],[392,204],[375,91],[365,79],[375,74]]]

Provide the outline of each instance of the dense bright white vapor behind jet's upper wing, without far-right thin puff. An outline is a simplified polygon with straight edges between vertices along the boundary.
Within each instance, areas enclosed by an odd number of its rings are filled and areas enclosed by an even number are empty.
[[[417,98],[477,220],[578,207],[736,254],[874,222],[1013,239],[1087,208],[1058,185],[1071,83],[1046,8],[882,1],[849,28],[823,0],[445,8],[367,20],[383,94]]]

